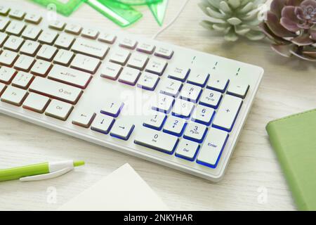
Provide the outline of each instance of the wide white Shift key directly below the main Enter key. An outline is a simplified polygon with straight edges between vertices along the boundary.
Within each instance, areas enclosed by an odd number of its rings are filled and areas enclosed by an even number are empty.
[[[77,87],[55,82],[51,79],[45,79],[43,77],[35,77],[29,91],[37,94],[43,94],[50,98],[56,98],[60,101],[75,104],[79,100],[82,90]]]

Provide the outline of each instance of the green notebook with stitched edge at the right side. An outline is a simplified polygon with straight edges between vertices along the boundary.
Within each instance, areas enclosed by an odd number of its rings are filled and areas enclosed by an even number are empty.
[[[266,129],[298,210],[316,210],[316,109],[274,120]]]

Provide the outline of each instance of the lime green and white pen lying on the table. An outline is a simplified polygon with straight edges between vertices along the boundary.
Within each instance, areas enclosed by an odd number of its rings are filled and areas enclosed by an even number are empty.
[[[20,179],[20,181],[40,181],[70,172],[74,167],[84,165],[84,161],[44,162],[25,167],[0,169],[0,181]]]

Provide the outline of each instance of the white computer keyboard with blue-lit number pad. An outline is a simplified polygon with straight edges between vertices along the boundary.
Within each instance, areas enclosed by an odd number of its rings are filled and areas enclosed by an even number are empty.
[[[0,113],[223,176],[262,68],[46,14],[0,7]]]

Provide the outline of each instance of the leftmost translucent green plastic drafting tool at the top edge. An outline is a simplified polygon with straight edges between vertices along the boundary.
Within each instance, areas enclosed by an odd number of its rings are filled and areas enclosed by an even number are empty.
[[[72,14],[85,0],[32,0],[49,9],[55,8],[62,15],[69,16]]]

